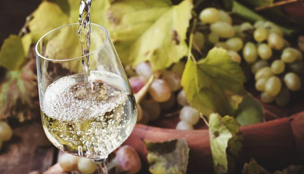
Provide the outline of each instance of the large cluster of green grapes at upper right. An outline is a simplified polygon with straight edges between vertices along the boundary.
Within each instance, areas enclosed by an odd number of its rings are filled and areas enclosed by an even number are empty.
[[[194,43],[200,50],[206,45],[226,49],[233,61],[250,67],[263,102],[286,106],[290,92],[300,90],[302,53],[290,47],[279,26],[270,21],[232,25],[231,16],[215,8],[204,9],[199,18],[209,29],[197,31]]]

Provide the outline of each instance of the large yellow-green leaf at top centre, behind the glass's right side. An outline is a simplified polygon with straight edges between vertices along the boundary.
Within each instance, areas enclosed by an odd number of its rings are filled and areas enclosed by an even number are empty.
[[[191,0],[173,6],[167,0],[125,0],[114,3],[109,18],[111,37],[123,64],[149,61],[154,70],[178,62],[187,54],[186,31]]]

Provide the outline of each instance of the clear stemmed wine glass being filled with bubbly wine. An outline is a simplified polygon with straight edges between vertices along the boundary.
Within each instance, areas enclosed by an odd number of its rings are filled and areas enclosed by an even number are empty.
[[[36,44],[43,128],[60,150],[92,159],[107,173],[106,158],[131,134],[137,108],[128,78],[107,30],[91,24],[91,91],[84,84],[79,23],[58,27]]]

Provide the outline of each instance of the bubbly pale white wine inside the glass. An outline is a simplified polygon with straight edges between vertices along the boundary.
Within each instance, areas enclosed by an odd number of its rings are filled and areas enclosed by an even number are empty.
[[[63,77],[41,94],[41,113],[49,140],[64,152],[105,158],[130,135],[136,123],[136,103],[120,76],[91,71],[92,91],[84,74]]]

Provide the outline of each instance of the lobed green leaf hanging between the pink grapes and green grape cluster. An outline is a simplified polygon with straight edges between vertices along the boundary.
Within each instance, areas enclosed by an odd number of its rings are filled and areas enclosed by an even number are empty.
[[[235,115],[243,95],[245,77],[240,66],[222,48],[213,48],[198,63],[189,59],[181,85],[190,105],[203,115]]]

